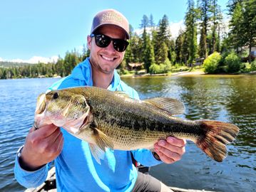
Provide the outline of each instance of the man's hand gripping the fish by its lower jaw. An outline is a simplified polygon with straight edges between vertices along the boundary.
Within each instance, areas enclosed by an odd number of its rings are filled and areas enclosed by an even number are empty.
[[[31,128],[19,163],[27,171],[34,171],[56,159],[62,148],[63,136],[59,127],[48,124],[36,130]]]

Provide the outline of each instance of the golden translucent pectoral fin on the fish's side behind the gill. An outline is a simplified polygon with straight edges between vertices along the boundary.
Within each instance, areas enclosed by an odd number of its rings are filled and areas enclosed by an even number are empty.
[[[96,142],[97,146],[103,151],[106,151],[106,148],[114,148],[114,144],[111,139],[106,134],[101,132],[100,129],[93,128],[93,140]]]

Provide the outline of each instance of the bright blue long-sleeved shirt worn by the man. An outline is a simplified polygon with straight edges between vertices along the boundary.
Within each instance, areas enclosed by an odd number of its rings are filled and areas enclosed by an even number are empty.
[[[71,75],[54,83],[49,90],[66,87],[93,86],[91,63],[89,58],[79,63]],[[114,72],[108,90],[123,91],[135,99],[138,93],[126,85]],[[61,129],[64,137],[63,150],[54,160],[56,166],[57,191],[132,191],[138,176],[133,166],[130,151],[106,150],[104,159],[98,164],[93,158],[88,143],[73,137]],[[131,151],[136,161],[144,166],[155,166],[158,161],[148,149]],[[16,156],[14,174],[16,180],[26,188],[39,186],[46,180],[50,164],[36,171],[26,171],[19,165]]]

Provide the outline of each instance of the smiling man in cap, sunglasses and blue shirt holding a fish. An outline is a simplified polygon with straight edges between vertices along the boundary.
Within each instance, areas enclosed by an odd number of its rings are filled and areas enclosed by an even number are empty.
[[[128,21],[118,11],[108,9],[93,18],[87,37],[90,58],[73,69],[50,90],[75,86],[96,86],[126,92],[134,99],[138,93],[116,73],[128,46]],[[178,161],[185,152],[185,140],[168,137],[155,144],[155,152],[107,150],[101,164],[91,155],[88,143],[53,124],[31,128],[24,147],[18,152],[15,176],[21,185],[39,186],[46,179],[49,162],[55,161],[58,191],[168,191],[155,178],[138,174],[132,156],[145,166]]]

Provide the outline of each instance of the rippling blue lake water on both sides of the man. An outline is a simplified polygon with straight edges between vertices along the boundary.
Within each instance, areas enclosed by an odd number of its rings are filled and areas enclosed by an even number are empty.
[[[14,179],[14,158],[34,119],[36,97],[58,79],[0,80],[0,191],[24,191]],[[169,186],[211,191],[255,191],[256,76],[123,78],[141,99],[174,97],[185,119],[216,119],[240,127],[217,163],[188,142],[183,159],[152,167],[150,174]]]

